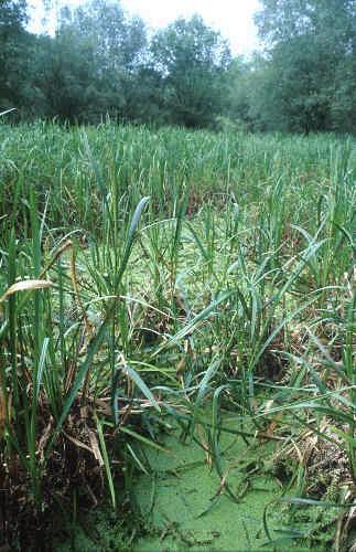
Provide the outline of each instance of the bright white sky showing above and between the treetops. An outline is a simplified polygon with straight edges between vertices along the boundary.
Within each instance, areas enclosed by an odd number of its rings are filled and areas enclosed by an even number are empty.
[[[52,0],[53,3],[78,6],[80,0]],[[44,15],[42,0],[30,0],[33,7],[30,29],[39,32]],[[258,0],[121,0],[121,6],[131,14],[141,18],[151,26],[160,28],[180,15],[199,13],[206,23],[222,32],[229,40],[235,54],[249,54],[257,46],[253,13],[259,8]],[[53,18],[50,29],[53,29]]]

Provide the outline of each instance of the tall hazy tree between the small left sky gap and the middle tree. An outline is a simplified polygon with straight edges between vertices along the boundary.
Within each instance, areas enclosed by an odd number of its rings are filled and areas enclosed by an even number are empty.
[[[98,123],[106,115],[134,118],[132,86],[147,50],[147,31],[120,4],[94,0],[62,10],[57,32],[43,51],[42,89],[47,113]]]

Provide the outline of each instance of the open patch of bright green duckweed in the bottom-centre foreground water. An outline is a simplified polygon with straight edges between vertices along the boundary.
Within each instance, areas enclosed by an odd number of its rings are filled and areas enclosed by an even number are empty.
[[[139,478],[133,496],[153,534],[133,550],[242,551],[266,544],[265,507],[281,493],[276,478],[262,473],[266,447],[247,446],[236,435],[225,435],[219,445],[223,480],[235,501],[196,443],[182,443],[174,432],[165,440],[171,454],[147,452],[152,475]]]

